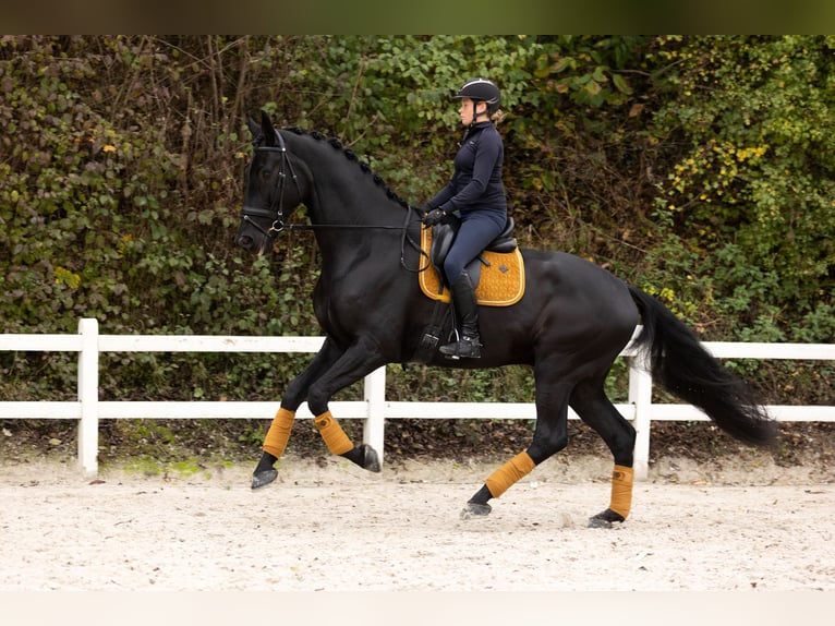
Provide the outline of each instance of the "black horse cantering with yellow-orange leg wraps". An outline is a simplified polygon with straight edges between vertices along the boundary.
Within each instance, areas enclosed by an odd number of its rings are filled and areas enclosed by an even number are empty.
[[[245,177],[237,242],[257,254],[286,229],[312,229],[322,252],[313,306],[325,332],[322,350],[287,387],[253,473],[253,489],[277,477],[295,410],[306,401],[332,454],[379,471],[377,454],[354,446],[328,410],[332,395],[386,363],[418,360],[433,317],[415,273],[426,266],[414,245],[420,215],[338,141],[298,129],[276,130],[266,113],[250,120],[254,154]],[[311,224],[286,220],[300,204]],[[609,507],[591,518],[610,526],[629,514],[636,432],[604,392],[604,381],[639,323],[656,381],[701,408],[718,426],[752,445],[770,445],[774,421],[747,385],[700,345],[668,309],[640,289],[578,256],[523,250],[527,291],[510,306],[482,306],[483,356],[422,362],[441,368],[527,364],[535,378],[531,445],[498,468],[467,503],[463,517],[487,515],[501,495],[567,444],[568,407],[594,429],[614,456]]]

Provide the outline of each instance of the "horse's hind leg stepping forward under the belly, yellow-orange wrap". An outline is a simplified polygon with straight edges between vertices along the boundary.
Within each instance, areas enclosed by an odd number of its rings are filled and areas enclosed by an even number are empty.
[[[487,502],[491,498],[499,497],[533,471],[533,468],[566,447],[569,394],[569,386],[545,385],[542,376],[536,376],[536,428],[531,445],[484,481],[484,485],[468,501],[461,511],[462,519],[488,515],[492,508]]]

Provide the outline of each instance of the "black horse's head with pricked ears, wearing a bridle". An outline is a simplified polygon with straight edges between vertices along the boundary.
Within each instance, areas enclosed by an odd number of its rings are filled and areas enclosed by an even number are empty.
[[[246,169],[235,241],[244,250],[263,254],[285,228],[289,212],[301,203],[301,188],[285,140],[269,116],[262,111],[261,125],[252,119],[249,125],[255,151]]]

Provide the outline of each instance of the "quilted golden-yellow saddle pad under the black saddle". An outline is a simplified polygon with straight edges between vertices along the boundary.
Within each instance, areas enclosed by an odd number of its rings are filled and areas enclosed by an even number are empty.
[[[421,248],[428,256],[432,250],[432,228],[421,230]],[[482,252],[489,265],[482,265],[482,275],[475,288],[479,304],[486,306],[510,306],[524,296],[524,263],[517,248],[512,252]],[[449,289],[440,291],[440,276],[435,267],[418,275],[423,292],[433,300],[449,302]]]

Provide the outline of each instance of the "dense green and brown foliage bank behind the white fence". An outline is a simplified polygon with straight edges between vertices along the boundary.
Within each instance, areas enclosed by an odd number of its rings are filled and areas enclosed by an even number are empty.
[[[449,97],[487,75],[523,245],[591,258],[706,340],[832,341],[833,52],[811,35],[3,36],[3,332],[88,316],[108,334],[319,334],[313,238],[270,258],[234,246],[246,116],[339,137],[420,203],[449,174]],[[102,399],[277,400],[306,358],[102,361]],[[835,399],[828,364],[730,364],[769,401]],[[0,352],[0,398],[73,398],[74,371],[72,354]],[[531,399],[516,368],[391,368],[389,386]]]

